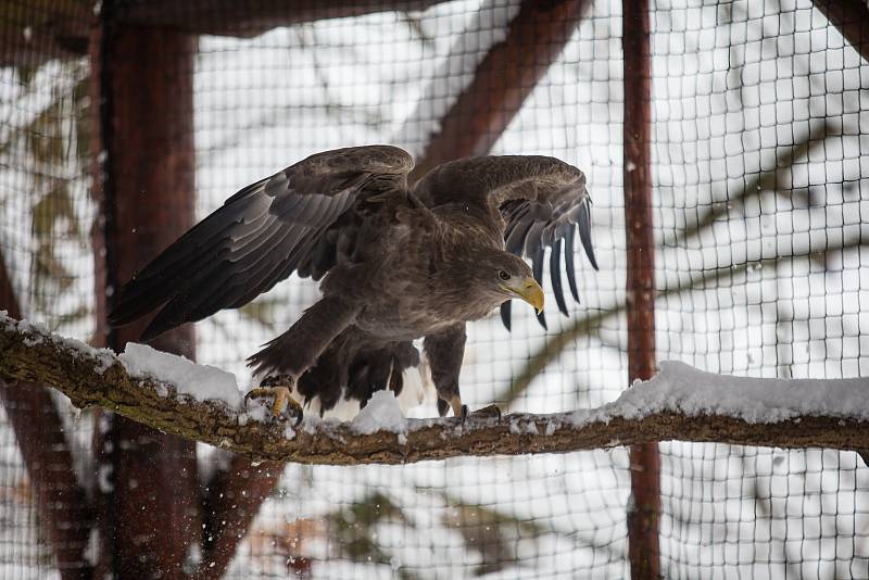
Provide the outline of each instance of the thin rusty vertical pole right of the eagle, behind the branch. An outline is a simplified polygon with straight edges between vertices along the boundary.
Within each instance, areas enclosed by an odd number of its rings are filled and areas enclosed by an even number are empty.
[[[625,234],[628,275],[628,379],[655,373],[655,256],[652,223],[652,65],[648,1],[624,0]],[[630,449],[628,554],[631,578],[660,577],[658,514],[660,455],[656,443]]]

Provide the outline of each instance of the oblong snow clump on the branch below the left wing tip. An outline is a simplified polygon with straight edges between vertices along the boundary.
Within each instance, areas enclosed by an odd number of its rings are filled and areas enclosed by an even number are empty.
[[[184,356],[160,352],[146,344],[127,343],[118,358],[134,377],[158,379],[175,386],[178,394],[197,401],[223,401],[229,408],[241,406],[243,393],[236,376],[209,365],[198,365]]]

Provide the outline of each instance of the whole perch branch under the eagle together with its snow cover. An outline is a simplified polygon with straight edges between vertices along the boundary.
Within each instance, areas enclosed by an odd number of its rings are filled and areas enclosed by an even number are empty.
[[[136,421],[255,461],[401,464],[458,455],[558,453],[646,441],[869,450],[869,380],[748,379],[664,363],[596,409],[404,419],[379,393],[351,423],[306,416],[293,428],[241,405],[235,377],[130,345],[119,356],[0,313],[0,376],[38,381],[76,406]]]

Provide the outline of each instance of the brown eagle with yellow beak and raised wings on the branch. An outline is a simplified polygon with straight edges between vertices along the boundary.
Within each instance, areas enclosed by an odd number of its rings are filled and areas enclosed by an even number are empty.
[[[466,417],[458,376],[465,327],[511,300],[543,318],[543,262],[567,315],[579,301],[577,231],[591,265],[591,200],[584,174],[557,159],[490,155],[444,163],[408,186],[413,157],[391,146],[337,149],[230,197],[138,272],[121,290],[110,324],[153,311],[149,341],[222,308],[238,308],[292,273],[319,281],[320,299],[249,357],[266,378],[245,396],[269,399],[274,418],[320,413],[341,396],[365,405],[398,395],[419,365],[423,339],[438,412]],[[531,260],[529,266],[522,256]]]

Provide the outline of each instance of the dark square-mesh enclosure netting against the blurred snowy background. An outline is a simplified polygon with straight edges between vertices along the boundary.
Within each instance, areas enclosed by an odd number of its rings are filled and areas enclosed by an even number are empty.
[[[200,37],[198,216],[317,151],[392,143],[420,155],[518,9],[452,1]],[[804,0],[658,2],[650,17],[658,361],[752,377],[869,376],[869,65]],[[4,42],[28,34],[14,10],[0,18]],[[471,408],[506,406],[511,377],[585,318],[589,331],[511,408],[594,407],[628,386],[620,35],[620,3],[592,2],[493,136],[493,153],[554,155],[585,172],[601,269],[577,254],[581,304],[569,318],[552,308],[549,330],[519,307],[512,332],[496,316],[469,326],[461,382]],[[0,70],[0,251],[25,315],[85,340],[96,328],[98,220],[89,73],[86,56]],[[247,384],[244,357],[316,295],[293,277],[200,323],[199,361]],[[431,392],[401,399],[410,416],[437,413]],[[79,477],[97,484],[91,416],[63,408]],[[0,576],[51,577],[5,418],[0,442]],[[664,576],[869,578],[869,470],[856,454],[681,442],[660,452]],[[203,471],[221,461],[204,445],[200,455]],[[620,578],[629,494],[624,447],[291,464],[227,577],[310,567],[315,578]]]

